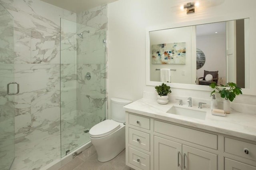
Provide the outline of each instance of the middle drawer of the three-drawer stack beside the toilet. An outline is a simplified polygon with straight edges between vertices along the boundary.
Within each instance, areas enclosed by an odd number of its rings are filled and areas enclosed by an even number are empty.
[[[129,128],[129,143],[150,151],[150,134]]]

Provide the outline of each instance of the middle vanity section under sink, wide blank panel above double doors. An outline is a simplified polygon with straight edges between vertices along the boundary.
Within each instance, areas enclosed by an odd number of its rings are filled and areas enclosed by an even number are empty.
[[[154,132],[154,170],[217,170],[216,154],[186,145],[194,142],[217,149],[216,134],[156,120],[154,120]],[[174,142],[157,136],[159,134],[182,140]]]

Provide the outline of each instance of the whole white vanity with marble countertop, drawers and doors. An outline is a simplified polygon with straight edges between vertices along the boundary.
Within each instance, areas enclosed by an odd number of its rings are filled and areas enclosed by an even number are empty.
[[[199,120],[167,114],[173,106],[143,98],[124,107],[127,166],[135,170],[256,170],[254,113],[234,111],[218,117],[206,108],[205,120]]]

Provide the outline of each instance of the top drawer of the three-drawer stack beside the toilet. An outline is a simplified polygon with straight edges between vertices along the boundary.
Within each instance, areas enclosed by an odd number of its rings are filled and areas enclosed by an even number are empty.
[[[150,119],[129,114],[129,124],[150,130]]]

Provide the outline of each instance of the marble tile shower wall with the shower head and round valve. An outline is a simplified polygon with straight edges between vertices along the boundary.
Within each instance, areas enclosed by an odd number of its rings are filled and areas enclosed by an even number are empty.
[[[107,5],[98,6],[77,13],[77,30],[84,30],[84,38],[78,39],[78,84],[77,84],[77,123],[88,129],[103,121],[107,111]],[[84,79],[87,72],[91,79]]]

